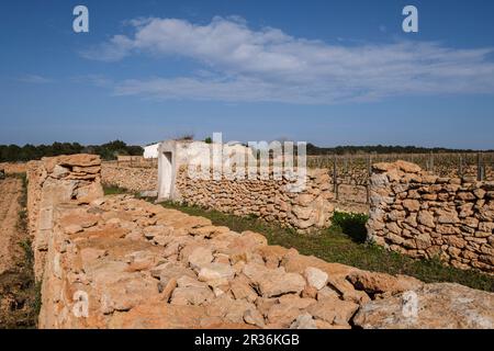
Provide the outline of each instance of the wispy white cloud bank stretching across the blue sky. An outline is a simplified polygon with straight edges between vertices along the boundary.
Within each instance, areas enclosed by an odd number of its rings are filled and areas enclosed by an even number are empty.
[[[128,22],[85,56],[121,60],[130,55],[186,57],[207,75],[115,83],[115,93],[159,99],[335,103],[393,95],[494,93],[492,48],[458,49],[431,42],[328,44],[280,30],[251,30],[237,18],[205,25],[176,19]]]

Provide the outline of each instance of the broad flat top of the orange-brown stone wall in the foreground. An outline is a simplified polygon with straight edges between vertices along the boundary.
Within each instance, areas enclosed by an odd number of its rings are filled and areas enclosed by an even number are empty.
[[[64,208],[54,229],[42,328],[494,328],[494,294],[328,263],[128,195]]]

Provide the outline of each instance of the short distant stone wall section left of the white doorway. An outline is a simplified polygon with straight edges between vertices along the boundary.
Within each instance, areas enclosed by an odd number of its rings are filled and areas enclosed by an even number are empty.
[[[125,167],[116,162],[103,162],[102,181],[133,192],[156,191],[158,189],[158,169],[147,167]]]

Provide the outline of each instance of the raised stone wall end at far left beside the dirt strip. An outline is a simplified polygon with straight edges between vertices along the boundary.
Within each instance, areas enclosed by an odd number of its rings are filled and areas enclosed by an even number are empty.
[[[33,240],[35,275],[41,280],[54,227],[55,207],[87,204],[103,195],[101,160],[93,155],[43,158],[27,163],[29,230]]]

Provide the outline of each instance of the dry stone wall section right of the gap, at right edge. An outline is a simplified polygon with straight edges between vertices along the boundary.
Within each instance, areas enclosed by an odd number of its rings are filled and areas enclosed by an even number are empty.
[[[373,166],[370,193],[370,240],[494,273],[494,182],[439,178],[397,161]]]

